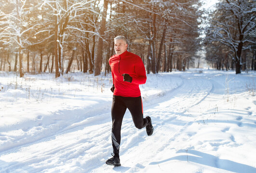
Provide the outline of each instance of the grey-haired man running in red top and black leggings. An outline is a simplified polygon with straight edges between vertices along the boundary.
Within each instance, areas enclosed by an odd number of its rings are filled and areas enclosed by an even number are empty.
[[[147,80],[144,64],[139,56],[127,51],[128,44],[125,37],[115,37],[114,43],[116,55],[109,59],[113,77],[111,138],[114,154],[111,159],[106,161],[106,164],[121,166],[119,158],[121,124],[126,109],[128,108],[131,112],[135,127],[138,129],[146,127],[148,136],[152,135],[153,126],[149,116],[143,118],[139,85],[145,84]]]

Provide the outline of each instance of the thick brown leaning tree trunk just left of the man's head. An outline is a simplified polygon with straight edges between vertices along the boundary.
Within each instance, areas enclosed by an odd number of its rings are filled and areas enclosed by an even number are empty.
[[[103,4],[103,12],[102,12],[102,19],[100,24],[100,31],[99,35],[104,37],[104,32],[106,28],[106,17],[107,17],[107,10],[108,10],[108,0],[104,0]],[[103,39],[99,37],[99,42],[97,45],[97,57],[94,64],[94,76],[97,76],[101,72],[101,64],[102,64],[102,51],[103,51]]]

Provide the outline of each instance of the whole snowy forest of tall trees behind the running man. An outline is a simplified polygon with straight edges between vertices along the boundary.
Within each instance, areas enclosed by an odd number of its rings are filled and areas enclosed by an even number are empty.
[[[147,73],[256,70],[256,0],[0,0],[0,71],[109,73],[113,38]],[[202,55],[204,54],[204,55]]]

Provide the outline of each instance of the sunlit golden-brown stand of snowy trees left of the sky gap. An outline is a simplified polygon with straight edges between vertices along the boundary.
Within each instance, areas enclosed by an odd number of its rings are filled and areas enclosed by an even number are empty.
[[[109,73],[124,35],[147,73],[195,64],[200,0],[0,0],[0,70]],[[249,26],[251,27],[251,25]]]

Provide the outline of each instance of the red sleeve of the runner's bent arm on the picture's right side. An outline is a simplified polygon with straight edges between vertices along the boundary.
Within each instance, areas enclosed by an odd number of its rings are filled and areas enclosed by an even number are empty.
[[[135,74],[131,74],[131,77],[133,78],[132,84],[141,85],[146,83],[146,70],[140,57],[135,62]]]

